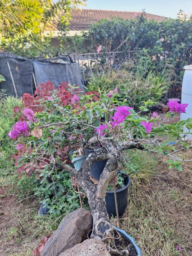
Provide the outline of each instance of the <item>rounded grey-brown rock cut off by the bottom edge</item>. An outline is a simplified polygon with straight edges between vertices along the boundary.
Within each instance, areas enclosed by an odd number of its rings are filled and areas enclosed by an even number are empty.
[[[67,249],[60,256],[111,256],[102,241],[87,239],[73,248]]]

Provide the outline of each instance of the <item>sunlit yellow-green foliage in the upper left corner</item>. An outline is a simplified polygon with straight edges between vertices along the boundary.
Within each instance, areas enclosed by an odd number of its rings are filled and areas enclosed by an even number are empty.
[[[0,0],[0,49],[26,57],[58,55],[65,40],[72,8],[86,0]],[[55,25],[55,22],[57,25]],[[57,26],[61,33],[58,49],[45,35]]]

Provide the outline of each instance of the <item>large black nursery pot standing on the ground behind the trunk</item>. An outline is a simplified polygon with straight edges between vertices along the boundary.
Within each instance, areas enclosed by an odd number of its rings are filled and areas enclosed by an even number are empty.
[[[125,187],[122,189],[116,190],[116,198],[117,198],[117,206],[119,211],[119,217],[123,215],[125,209],[127,208],[128,204],[128,186],[130,185],[131,180],[130,177],[124,178]],[[115,195],[113,191],[107,191],[105,197],[108,215],[110,217],[116,217],[116,207],[115,207]]]

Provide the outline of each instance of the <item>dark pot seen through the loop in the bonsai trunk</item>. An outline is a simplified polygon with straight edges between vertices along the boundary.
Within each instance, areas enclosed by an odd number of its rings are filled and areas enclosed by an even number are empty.
[[[89,154],[93,153],[93,149],[84,149],[86,157],[88,157]],[[107,163],[107,160],[102,160],[102,161],[96,161],[93,163],[93,165],[90,168],[90,176],[92,176],[95,180],[99,180],[100,175],[102,174],[105,164]]]

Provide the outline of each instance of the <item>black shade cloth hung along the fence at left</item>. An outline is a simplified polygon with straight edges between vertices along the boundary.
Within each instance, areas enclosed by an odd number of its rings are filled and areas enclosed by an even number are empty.
[[[79,66],[68,55],[33,60],[8,52],[0,52],[0,75],[6,79],[6,81],[0,82],[0,90],[6,90],[8,96],[16,96],[16,93],[7,62],[9,62],[19,97],[23,96],[23,93],[34,93],[33,73],[37,85],[49,80],[58,88],[59,84],[64,81],[72,85],[76,84],[81,90],[84,90],[84,81]]]

